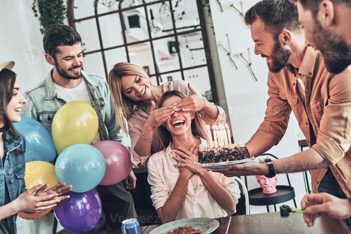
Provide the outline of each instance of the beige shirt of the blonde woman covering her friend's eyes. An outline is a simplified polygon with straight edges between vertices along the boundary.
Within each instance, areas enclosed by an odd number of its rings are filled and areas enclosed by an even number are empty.
[[[186,95],[190,96],[191,92],[188,89],[188,82],[184,80],[176,80],[176,81],[170,81],[166,82],[162,85],[163,91],[172,91],[172,90],[179,90],[181,92],[184,92]],[[200,96],[200,98],[204,98],[198,91],[196,91],[197,95]],[[206,98],[204,98],[206,99]],[[224,112],[224,109],[217,106],[219,115],[217,119],[211,119],[210,117],[207,116],[207,114],[204,111],[197,112],[196,114],[199,115],[199,120],[200,120],[200,125],[203,130],[204,135],[206,136],[206,139],[208,139],[208,130],[207,130],[207,125],[206,124],[224,124],[226,121],[226,115]],[[131,148],[129,149],[130,154],[131,154],[131,160],[132,163],[135,167],[141,162],[141,165],[146,165],[147,160],[150,158],[151,154],[146,156],[146,157],[141,157],[139,156],[135,151],[134,151],[134,146],[138,142],[140,135],[141,135],[141,130],[143,129],[143,126],[149,116],[142,110],[137,109],[133,112],[132,116],[128,119],[128,133],[131,138]],[[158,138],[158,128],[154,129],[153,132],[153,141],[152,141],[152,150],[154,152],[158,152],[159,149],[159,138]]]

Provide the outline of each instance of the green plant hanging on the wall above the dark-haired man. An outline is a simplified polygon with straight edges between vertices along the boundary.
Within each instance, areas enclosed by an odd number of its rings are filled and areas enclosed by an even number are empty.
[[[64,24],[67,14],[63,0],[33,0],[32,10],[39,17],[41,34],[55,24]]]

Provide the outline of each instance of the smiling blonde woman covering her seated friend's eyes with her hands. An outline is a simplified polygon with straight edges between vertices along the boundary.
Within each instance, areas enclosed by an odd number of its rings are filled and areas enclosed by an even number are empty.
[[[131,138],[131,160],[136,167],[147,164],[151,152],[158,152],[157,128],[178,110],[195,111],[200,127],[207,135],[206,124],[225,122],[224,110],[206,100],[190,83],[176,80],[154,86],[144,69],[128,62],[113,66],[108,75],[113,107],[117,122]],[[186,98],[169,106],[158,108],[161,95],[179,90]]]

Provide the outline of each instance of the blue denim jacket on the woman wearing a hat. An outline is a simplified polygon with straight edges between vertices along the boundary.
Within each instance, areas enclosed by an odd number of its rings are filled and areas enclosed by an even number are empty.
[[[8,142],[10,136],[3,136],[5,148],[4,167],[0,163],[0,206],[4,206],[5,201],[5,183],[8,188],[10,200],[15,200],[21,193],[25,192],[26,184],[24,181],[26,171],[26,160],[24,153],[26,151],[26,139],[20,133],[20,136],[11,142]],[[6,218],[10,233],[16,233],[17,214]]]

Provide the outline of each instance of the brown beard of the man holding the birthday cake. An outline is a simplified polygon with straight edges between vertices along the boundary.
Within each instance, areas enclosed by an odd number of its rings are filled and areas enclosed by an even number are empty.
[[[285,67],[285,65],[287,65],[287,61],[289,60],[291,54],[292,54],[291,50],[283,48],[280,45],[279,40],[277,39],[272,49],[271,56],[261,54],[261,57],[262,58],[270,57],[272,62],[271,63],[267,62],[268,69],[270,72],[278,73]]]

